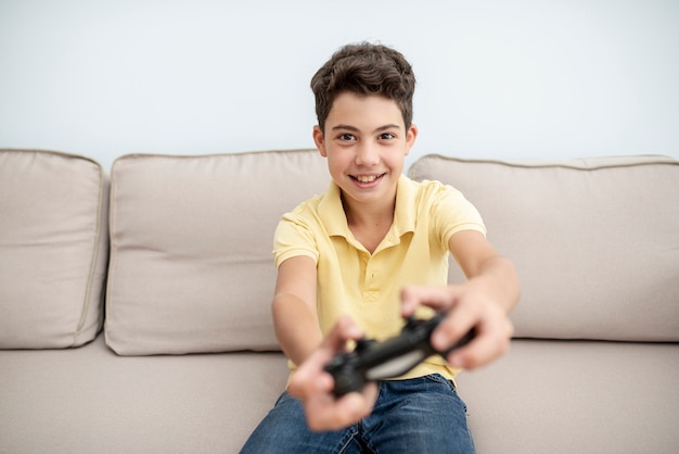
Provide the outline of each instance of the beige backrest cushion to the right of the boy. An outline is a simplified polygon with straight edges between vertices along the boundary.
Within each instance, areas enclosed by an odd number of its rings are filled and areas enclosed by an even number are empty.
[[[516,264],[516,337],[679,341],[679,162],[428,155],[410,176],[460,189]]]

